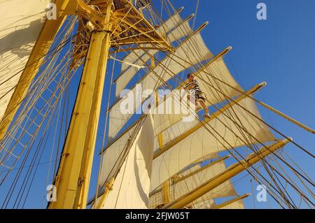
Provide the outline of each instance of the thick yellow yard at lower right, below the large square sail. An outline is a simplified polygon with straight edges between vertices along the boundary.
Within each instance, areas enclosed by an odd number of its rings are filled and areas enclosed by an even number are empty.
[[[283,146],[290,141],[292,141],[292,138],[290,138],[290,140],[283,139],[281,141],[278,141],[277,143],[274,143],[273,145],[267,146],[267,148],[260,149],[258,152],[249,155],[246,159],[240,161],[238,164],[233,164],[223,173],[220,173],[214,176],[214,178],[211,178],[211,180],[204,182],[204,184],[200,185],[188,194],[184,194],[179,199],[176,199],[176,201],[167,204],[163,207],[163,209],[179,209],[187,206],[189,203],[200,198],[200,196],[203,196],[207,192],[211,191],[211,189],[214,189],[218,187],[218,185],[221,185],[223,182],[230,180],[230,178],[246,170],[249,166],[253,166],[253,164],[260,161],[260,159],[267,157],[269,154],[272,154],[276,150],[279,150],[279,148],[283,148]]]

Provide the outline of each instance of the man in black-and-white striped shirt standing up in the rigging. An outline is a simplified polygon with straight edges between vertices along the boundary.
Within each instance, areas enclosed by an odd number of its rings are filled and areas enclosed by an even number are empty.
[[[187,99],[189,101],[190,95],[193,95],[195,97],[195,104],[200,103],[202,108],[204,108],[204,113],[205,113],[204,117],[210,118],[209,109],[206,106],[207,96],[200,89],[200,85],[199,85],[198,80],[195,79],[195,76],[193,75],[193,73],[188,73],[187,78],[188,78],[188,82],[183,87],[183,89],[185,89],[185,91],[183,92],[181,99],[183,98],[183,96],[185,96],[186,93],[188,93]],[[180,99],[180,101],[181,101],[181,99]],[[198,107],[196,110],[198,110]]]

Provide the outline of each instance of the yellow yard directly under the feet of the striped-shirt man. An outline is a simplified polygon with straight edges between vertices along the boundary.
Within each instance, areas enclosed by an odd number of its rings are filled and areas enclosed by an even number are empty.
[[[189,129],[188,131],[184,132],[183,134],[181,134],[181,136],[178,136],[176,138],[174,138],[172,141],[169,141],[169,143],[167,143],[163,148],[161,148],[160,150],[158,150],[157,152],[155,152],[155,154],[153,155],[153,159],[155,159],[156,157],[160,156],[162,153],[166,152],[167,150],[169,150],[170,148],[172,148],[174,145],[176,145],[177,143],[181,142],[184,138],[190,136],[190,134],[193,134],[195,131],[197,131],[198,129],[204,127],[204,124],[207,124],[208,122],[210,122],[211,120],[214,120],[216,117],[218,117],[219,115],[221,115],[222,113],[225,112],[225,110],[228,110],[229,108],[231,108],[232,106],[234,106],[236,103],[238,103],[239,101],[241,101],[242,99],[246,98],[246,96],[248,96],[249,94],[253,94],[254,92],[257,92],[259,89],[261,89],[262,87],[264,87],[266,85],[266,82],[262,82],[259,85],[255,85],[254,87],[252,87],[251,89],[249,89],[247,92],[245,92],[244,94],[241,94],[240,96],[237,97],[237,99],[235,99],[234,101],[231,101],[230,103],[228,103],[227,105],[223,106],[222,108],[220,108],[219,110],[216,110],[216,112],[211,114],[210,118],[207,118],[206,120],[198,123],[197,125],[195,125],[195,127]]]

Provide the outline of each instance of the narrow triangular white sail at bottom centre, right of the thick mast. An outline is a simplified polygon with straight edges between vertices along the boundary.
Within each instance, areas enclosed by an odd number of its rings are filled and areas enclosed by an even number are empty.
[[[148,208],[153,159],[153,123],[146,117],[104,202],[104,209]]]

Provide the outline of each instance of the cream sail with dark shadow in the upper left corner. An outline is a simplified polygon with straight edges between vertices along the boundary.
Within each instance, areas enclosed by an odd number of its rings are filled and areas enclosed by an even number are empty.
[[[0,121],[43,27],[49,2],[0,1]]]

